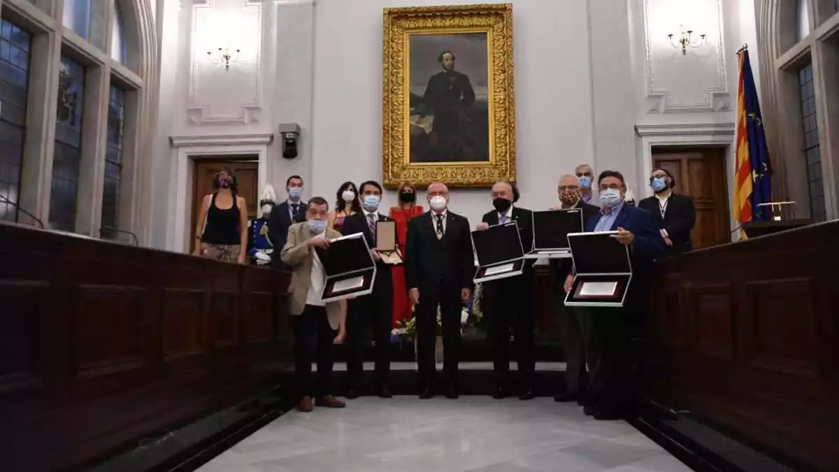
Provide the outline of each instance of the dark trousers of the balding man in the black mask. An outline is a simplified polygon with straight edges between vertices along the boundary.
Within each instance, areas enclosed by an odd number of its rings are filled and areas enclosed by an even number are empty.
[[[532,279],[518,275],[510,279],[490,281],[484,285],[487,309],[487,339],[492,343],[492,364],[496,382],[507,380],[510,370],[510,333],[513,333],[516,364],[525,385],[533,381],[536,370],[534,342],[535,316],[531,291],[526,286]]]

